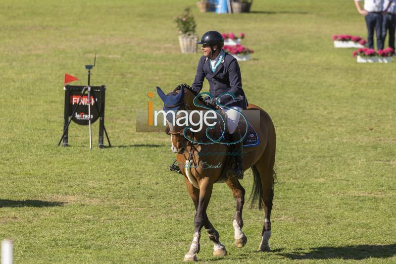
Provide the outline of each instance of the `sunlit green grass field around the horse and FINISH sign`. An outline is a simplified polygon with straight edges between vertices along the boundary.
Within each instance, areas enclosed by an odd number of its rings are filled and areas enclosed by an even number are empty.
[[[0,239],[15,263],[177,263],[194,230],[184,179],[167,170],[168,136],[136,133],[155,86],[191,84],[200,54],[181,54],[173,17],[191,6],[201,35],[244,32],[250,103],[272,116],[277,174],[272,252],[257,253],[263,213],[244,211],[245,248],[233,245],[235,201],[215,185],[208,216],[228,256],[201,262],[396,262],[396,64],[357,64],[332,35],[366,36],[346,0],[256,0],[252,13],[199,13],[196,0],[0,1]],[[89,151],[88,127],[62,133],[67,72],[107,86],[112,148]],[[204,89],[208,89],[205,84]],[[160,107],[158,97],[154,105]],[[93,125],[98,140],[98,123]],[[250,193],[252,174],[243,185]]]

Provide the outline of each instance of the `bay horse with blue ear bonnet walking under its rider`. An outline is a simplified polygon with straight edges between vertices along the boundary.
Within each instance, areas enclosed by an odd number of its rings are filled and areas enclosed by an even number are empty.
[[[164,102],[165,107],[173,107],[179,110],[206,110],[201,97],[191,90],[188,85],[179,85],[173,92],[165,95],[162,90],[157,87],[157,93]],[[197,98],[196,98],[197,97]],[[194,99],[198,102],[198,106],[194,104]],[[200,105],[200,106],[199,106]],[[249,104],[247,110],[258,110],[259,122],[254,127],[259,138],[259,144],[255,147],[244,148],[243,150],[243,167],[245,170],[252,169],[254,183],[252,187],[252,205],[257,202],[258,208],[264,209],[264,224],[261,232],[261,243],[258,251],[269,251],[269,238],[271,236],[271,210],[272,200],[274,196],[275,183],[275,151],[276,151],[276,135],[275,127],[271,117],[258,106]],[[180,116],[175,115],[176,119]],[[242,116],[242,115],[241,115]],[[166,117],[165,117],[166,118]],[[227,251],[220,242],[220,235],[209,221],[206,209],[212,194],[213,184],[219,180],[222,175],[221,164],[226,164],[229,159],[227,153],[227,145],[225,144],[196,144],[191,143],[185,137],[185,126],[173,125],[168,122],[167,134],[171,135],[172,151],[176,153],[181,173],[184,175],[187,190],[193,200],[196,214],[194,218],[195,230],[193,242],[189,252],[185,255],[184,261],[197,261],[199,252],[199,239],[202,227],[205,227],[209,235],[209,239],[213,242],[213,256],[225,256]],[[254,126],[252,124],[252,126]],[[243,132],[241,131],[241,134]],[[199,142],[206,136],[205,129],[199,132],[190,133],[194,141]],[[209,155],[203,155],[203,154]],[[220,155],[219,155],[220,154]],[[220,164],[220,165],[219,165]],[[224,174],[223,174],[224,175]],[[221,182],[221,181],[220,181]],[[234,215],[234,244],[238,248],[242,248],[247,243],[247,237],[242,231],[244,222],[242,220],[242,210],[245,203],[245,189],[235,177],[228,177],[223,180],[231,189],[236,205]]]

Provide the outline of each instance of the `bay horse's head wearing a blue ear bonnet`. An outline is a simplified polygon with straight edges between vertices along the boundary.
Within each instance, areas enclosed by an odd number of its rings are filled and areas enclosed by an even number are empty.
[[[184,137],[185,126],[177,125],[176,120],[183,117],[182,114],[177,114],[179,110],[192,110],[196,109],[193,101],[195,94],[188,88],[184,86],[178,86],[173,92],[167,95],[162,92],[161,88],[157,87],[157,93],[164,102],[163,110],[166,112],[166,133],[171,136],[172,151],[174,153],[183,153],[186,150],[187,140]],[[175,120],[173,120],[175,118]],[[189,133],[188,133],[189,134]]]

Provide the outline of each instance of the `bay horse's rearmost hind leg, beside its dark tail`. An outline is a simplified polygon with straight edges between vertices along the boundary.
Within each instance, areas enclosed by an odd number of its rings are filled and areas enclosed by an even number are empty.
[[[268,153],[268,149],[266,149],[263,156],[254,164],[255,169],[253,168],[253,174],[259,174],[255,177],[260,177],[261,203],[264,208],[264,226],[261,231],[262,239],[258,248],[259,251],[270,250],[268,241],[271,237],[271,211],[275,180],[274,163],[275,152]]]

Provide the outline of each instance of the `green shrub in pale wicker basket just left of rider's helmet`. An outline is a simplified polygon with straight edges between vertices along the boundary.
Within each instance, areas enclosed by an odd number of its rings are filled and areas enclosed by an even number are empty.
[[[186,8],[182,15],[175,17],[179,29],[179,44],[182,53],[197,53],[198,35],[195,34],[196,23],[190,8]]]

